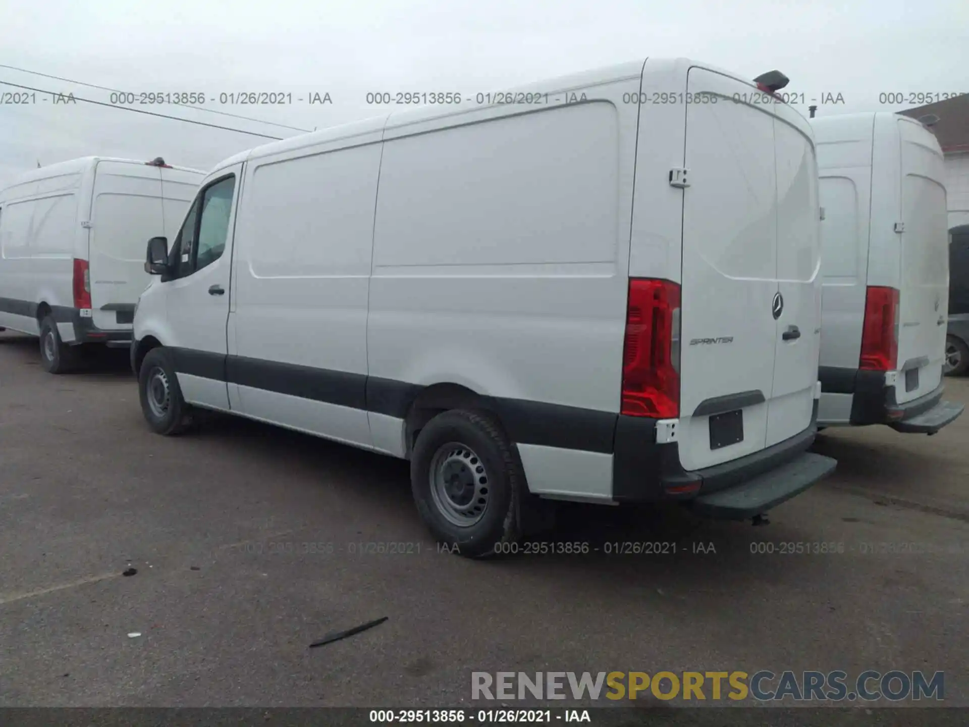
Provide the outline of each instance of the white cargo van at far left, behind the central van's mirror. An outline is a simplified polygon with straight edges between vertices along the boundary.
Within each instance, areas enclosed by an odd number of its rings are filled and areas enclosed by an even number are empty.
[[[85,157],[0,191],[0,328],[39,335],[51,373],[82,343],[127,347],[148,284],[144,238],[177,229],[204,176],[152,162]]]

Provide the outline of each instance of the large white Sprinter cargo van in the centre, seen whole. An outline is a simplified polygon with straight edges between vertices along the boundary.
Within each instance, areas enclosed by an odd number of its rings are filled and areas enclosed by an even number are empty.
[[[683,59],[498,98],[208,174],[171,248],[148,244],[149,425],[203,407],[408,458],[422,518],[467,555],[518,537],[538,498],[760,522],[828,474],[806,452],[807,121]]]

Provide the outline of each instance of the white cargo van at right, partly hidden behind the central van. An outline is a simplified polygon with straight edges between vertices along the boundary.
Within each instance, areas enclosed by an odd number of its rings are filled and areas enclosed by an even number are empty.
[[[818,142],[824,314],[819,424],[934,434],[942,399],[949,232],[942,150],[891,112],[811,121]]]

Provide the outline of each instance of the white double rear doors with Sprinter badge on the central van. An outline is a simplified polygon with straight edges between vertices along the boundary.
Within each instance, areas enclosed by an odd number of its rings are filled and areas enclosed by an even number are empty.
[[[691,68],[687,91],[678,440],[689,470],[810,426],[820,296],[809,129],[714,71]],[[789,326],[799,335],[785,339]]]

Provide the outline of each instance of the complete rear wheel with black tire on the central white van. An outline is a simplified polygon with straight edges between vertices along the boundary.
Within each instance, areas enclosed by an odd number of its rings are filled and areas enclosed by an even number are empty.
[[[508,437],[484,412],[454,409],[422,428],[411,489],[424,524],[456,553],[501,554],[501,546],[521,537],[524,473]]]

